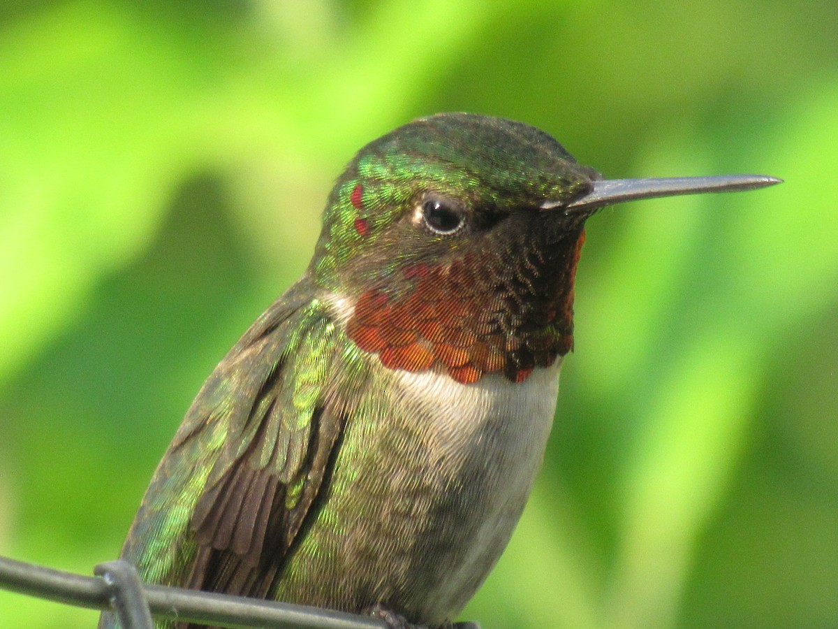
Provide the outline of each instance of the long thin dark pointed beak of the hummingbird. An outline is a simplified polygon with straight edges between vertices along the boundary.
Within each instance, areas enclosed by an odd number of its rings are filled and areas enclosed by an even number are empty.
[[[570,203],[546,201],[541,204],[541,209],[563,209],[571,213],[614,205],[623,201],[654,199],[657,196],[757,190],[782,181],[783,179],[763,174],[721,174],[711,177],[667,177],[664,179],[601,179],[592,182],[593,188],[587,195],[572,200]]]

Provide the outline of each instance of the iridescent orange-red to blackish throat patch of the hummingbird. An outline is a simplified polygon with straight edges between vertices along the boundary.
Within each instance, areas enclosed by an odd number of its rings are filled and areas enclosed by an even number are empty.
[[[439,368],[463,384],[495,372],[524,382],[572,347],[573,276],[583,241],[581,234],[564,264],[532,277],[508,266],[492,276],[473,253],[447,265],[405,268],[410,288],[396,295],[365,291],[347,334],[391,369]]]

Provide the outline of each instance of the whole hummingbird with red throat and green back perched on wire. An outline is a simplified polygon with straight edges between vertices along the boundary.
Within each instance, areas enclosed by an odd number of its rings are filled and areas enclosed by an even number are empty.
[[[535,127],[468,113],[376,139],[303,278],[200,389],[122,559],[147,583],[451,626],[541,466],[587,219],[779,181],[607,180]]]

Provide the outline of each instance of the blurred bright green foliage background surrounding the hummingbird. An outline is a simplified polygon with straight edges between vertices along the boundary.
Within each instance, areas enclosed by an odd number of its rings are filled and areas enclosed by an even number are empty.
[[[0,554],[91,574],[357,148],[530,122],[611,177],[544,470],[463,617],[838,626],[838,3],[0,3]],[[0,592],[3,627],[96,613]]]

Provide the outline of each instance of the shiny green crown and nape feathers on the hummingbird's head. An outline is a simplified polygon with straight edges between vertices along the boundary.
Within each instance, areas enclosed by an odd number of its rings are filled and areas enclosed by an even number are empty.
[[[313,278],[334,289],[360,270],[366,285],[375,278],[365,272],[388,275],[396,265],[427,256],[421,238],[394,227],[429,190],[508,214],[545,199],[577,198],[597,178],[555,139],[529,125],[473,114],[422,118],[362,148],[341,175],[323,215]],[[357,207],[352,193],[359,185]],[[354,228],[358,218],[369,221],[366,236]],[[370,265],[370,254],[382,264]]]

